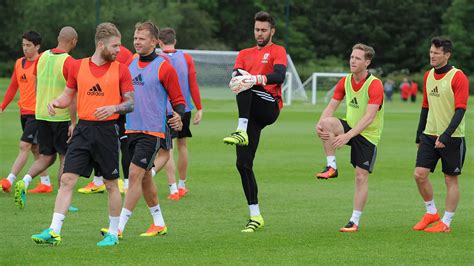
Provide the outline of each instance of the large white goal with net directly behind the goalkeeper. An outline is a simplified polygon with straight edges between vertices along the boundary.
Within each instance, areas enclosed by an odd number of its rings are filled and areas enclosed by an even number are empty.
[[[203,98],[227,99],[233,96],[228,90],[228,84],[237,51],[182,51],[193,57]],[[282,86],[282,98],[285,105],[290,105],[292,100],[307,100],[308,97],[290,55],[287,55],[287,58],[288,66],[285,83]]]

